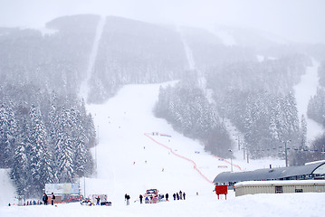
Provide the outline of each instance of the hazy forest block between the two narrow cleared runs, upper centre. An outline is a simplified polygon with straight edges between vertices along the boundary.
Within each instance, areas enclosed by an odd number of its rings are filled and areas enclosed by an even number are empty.
[[[124,84],[180,79],[185,69],[184,48],[173,28],[108,16],[91,77],[90,100],[101,103]]]

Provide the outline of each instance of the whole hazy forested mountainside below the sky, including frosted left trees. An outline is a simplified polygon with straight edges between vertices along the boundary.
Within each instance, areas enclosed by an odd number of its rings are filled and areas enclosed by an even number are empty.
[[[321,157],[324,136],[307,139],[306,117],[325,123],[324,46],[294,44],[260,31],[225,28],[222,35],[217,28],[94,14],[59,17],[46,28],[52,31],[0,28],[0,167],[11,168],[20,193],[38,194],[46,182],[93,174],[90,148],[99,132],[85,104],[100,106],[129,84],[174,80],[148,90],[157,93],[152,97],[157,103],[146,112],[154,109],[156,117],[212,155],[233,157],[229,150],[238,143],[253,159],[284,159],[284,144],[291,148],[291,165]],[[320,89],[310,94],[301,114],[294,87],[311,68],[318,71],[312,85]],[[142,92],[139,96],[147,103]],[[144,120],[132,127],[143,127]],[[230,132],[230,125],[237,131]],[[28,166],[14,164],[22,161]],[[54,172],[42,173],[44,168]],[[30,170],[27,182],[22,177]]]

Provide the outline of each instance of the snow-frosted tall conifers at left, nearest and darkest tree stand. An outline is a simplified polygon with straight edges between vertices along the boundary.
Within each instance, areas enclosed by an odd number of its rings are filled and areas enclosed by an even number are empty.
[[[45,183],[91,175],[96,132],[83,101],[32,85],[1,90],[0,166],[11,169],[17,193],[39,195]]]

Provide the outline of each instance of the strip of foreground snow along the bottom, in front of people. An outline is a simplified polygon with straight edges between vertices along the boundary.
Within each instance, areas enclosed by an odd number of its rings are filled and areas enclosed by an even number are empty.
[[[259,194],[217,200],[215,195],[188,196],[186,201],[170,201],[157,204],[131,203],[111,207],[85,207],[78,203],[53,206],[0,207],[1,216],[323,216],[324,193]]]

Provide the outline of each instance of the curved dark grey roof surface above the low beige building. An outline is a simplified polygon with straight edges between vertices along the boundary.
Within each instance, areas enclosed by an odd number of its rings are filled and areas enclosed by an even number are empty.
[[[242,181],[259,181],[259,180],[277,180],[296,175],[311,175],[320,165],[325,162],[311,165],[279,167],[272,169],[257,169],[247,172],[224,172],[215,176],[214,183],[242,182]]]

